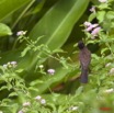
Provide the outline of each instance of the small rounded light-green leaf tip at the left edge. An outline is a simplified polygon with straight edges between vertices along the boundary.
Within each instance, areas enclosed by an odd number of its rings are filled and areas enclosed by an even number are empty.
[[[11,29],[5,24],[0,23],[0,36],[5,35],[12,35]]]

